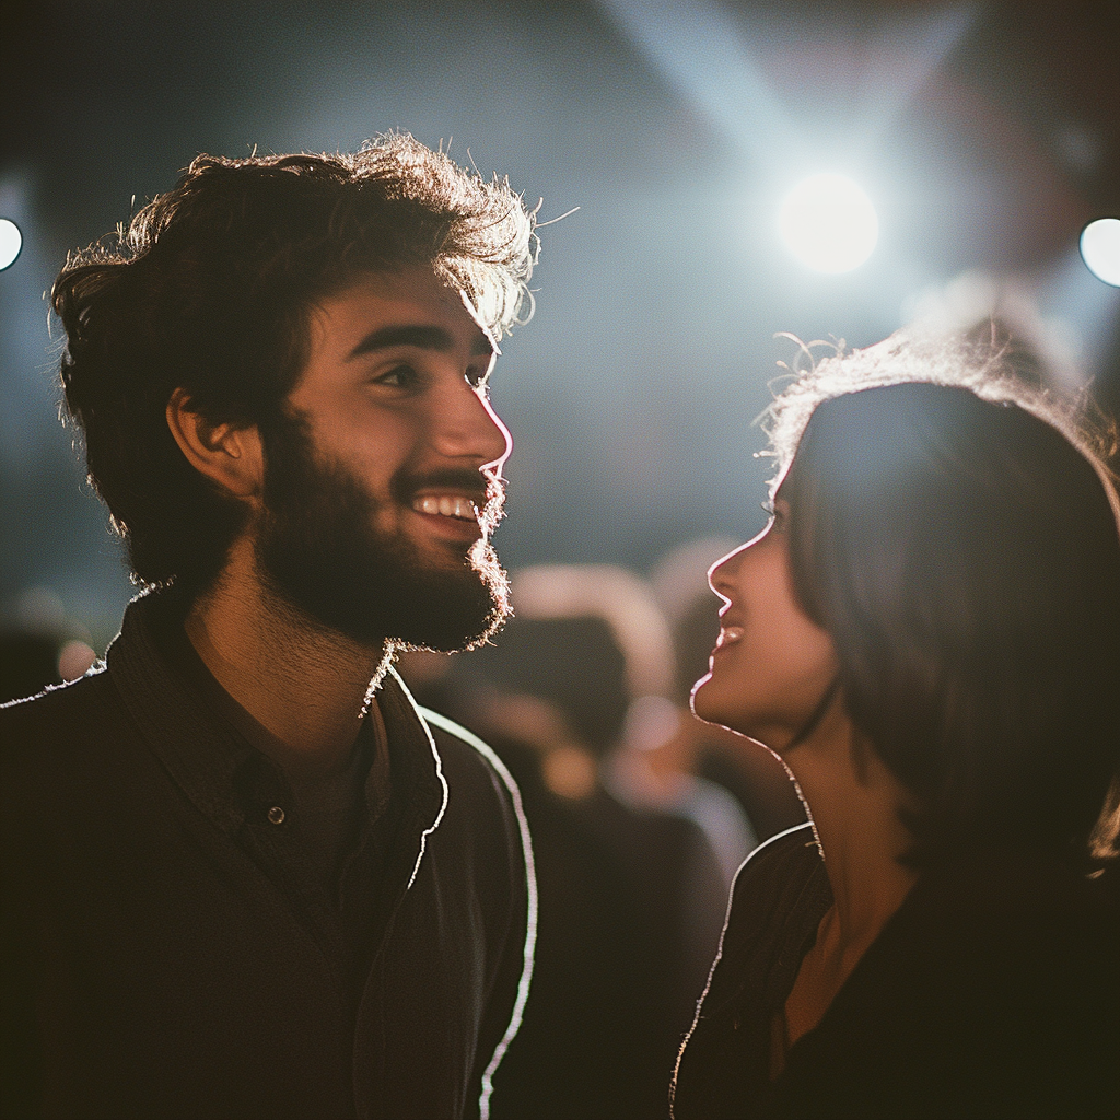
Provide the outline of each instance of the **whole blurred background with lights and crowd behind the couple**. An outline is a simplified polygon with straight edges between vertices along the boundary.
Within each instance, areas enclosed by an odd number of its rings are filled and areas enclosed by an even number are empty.
[[[498,749],[533,828],[538,970],[495,1117],[664,1117],[731,876],[803,819],[776,758],[687,709],[704,571],[765,521],[775,336],[995,333],[1120,411],[1120,0],[0,13],[0,699],[81,675],[134,591],[58,421],[67,250],[198,152],[389,129],[562,217],[493,382],[517,618],[402,672]]]

